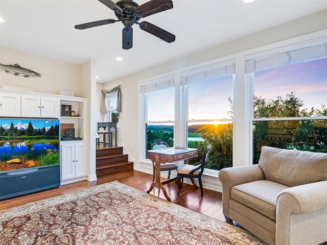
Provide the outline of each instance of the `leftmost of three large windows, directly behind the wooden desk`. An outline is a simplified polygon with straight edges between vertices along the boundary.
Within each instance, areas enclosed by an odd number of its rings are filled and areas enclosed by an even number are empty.
[[[145,158],[156,139],[174,145],[174,80],[159,80],[140,87],[143,99]]]

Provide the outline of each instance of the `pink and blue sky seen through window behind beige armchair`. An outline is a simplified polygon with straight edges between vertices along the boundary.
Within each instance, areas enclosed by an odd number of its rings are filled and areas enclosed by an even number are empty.
[[[295,92],[303,108],[327,106],[327,58],[255,72],[254,95],[276,99]]]

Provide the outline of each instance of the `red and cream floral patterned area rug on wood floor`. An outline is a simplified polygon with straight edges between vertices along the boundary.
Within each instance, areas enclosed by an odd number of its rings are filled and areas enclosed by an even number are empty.
[[[0,244],[265,244],[117,181],[0,212]]]

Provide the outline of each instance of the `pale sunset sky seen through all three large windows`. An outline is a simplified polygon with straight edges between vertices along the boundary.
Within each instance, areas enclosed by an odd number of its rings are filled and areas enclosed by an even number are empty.
[[[229,118],[232,77],[189,85],[189,119]],[[304,108],[327,106],[327,58],[255,72],[254,95],[286,98],[295,92]],[[174,88],[148,93],[148,120],[174,120]]]

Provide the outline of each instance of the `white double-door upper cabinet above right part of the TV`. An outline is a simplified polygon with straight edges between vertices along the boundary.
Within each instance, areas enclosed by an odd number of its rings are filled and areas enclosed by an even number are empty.
[[[22,117],[59,117],[59,100],[52,97],[21,95]]]

